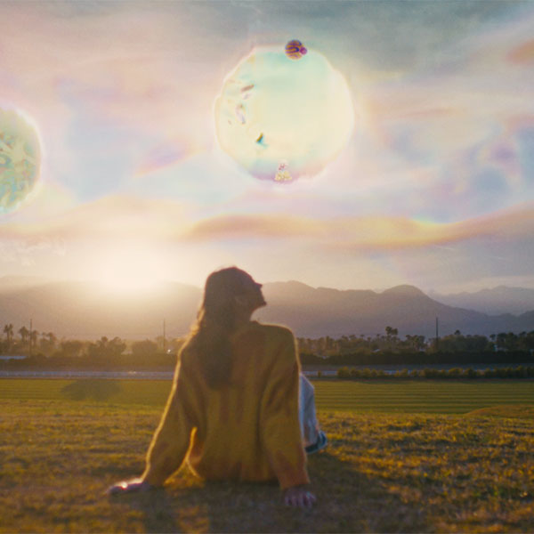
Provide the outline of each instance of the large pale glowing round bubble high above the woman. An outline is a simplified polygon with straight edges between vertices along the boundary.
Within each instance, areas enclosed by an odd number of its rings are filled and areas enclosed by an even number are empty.
[[[352,135],[354,110],[344,77],[322,54],[288,61],[283,47],[262,47],[224,80],[214,121],[231,158],[281,183],[319,174],[335,159]]]

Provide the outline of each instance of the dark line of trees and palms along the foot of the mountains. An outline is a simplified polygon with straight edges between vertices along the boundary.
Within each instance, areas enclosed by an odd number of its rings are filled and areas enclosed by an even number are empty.
[[[17,336],[18,334],[18,336]],[[449,336],[429,338],[399,336],[397,328],[387,326],[376,336],[323,336],[297,338],[303,364],[372,365],[426,363],[534,363],[534,330],[501,332],[495,335],[463,335],[459,330]],[[127,344],[119,337],[102,336],[97,341],[58,339],[53,332],[38,332],[22,326],[4,325],[0,355],[28,356],[20,365],[39,362],[78,365],[173,366],[183,337],[145,339]],[[5,363],[5,362],[4,362]],[[11,362],[13,365],[13,362]]]

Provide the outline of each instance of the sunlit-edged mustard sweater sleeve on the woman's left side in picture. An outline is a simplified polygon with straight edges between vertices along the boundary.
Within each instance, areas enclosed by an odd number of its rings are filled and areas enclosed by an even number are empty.
[[[142,480],[161,486],[181,465],[195,428],[196,402],[186,368],[179,362],[158,430],[152,438]]]

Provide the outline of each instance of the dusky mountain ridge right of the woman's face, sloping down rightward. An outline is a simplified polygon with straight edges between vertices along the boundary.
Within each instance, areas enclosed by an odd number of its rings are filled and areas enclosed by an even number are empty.
[[[256,312],[264,321],[287,324],[299,336],[383,334],[386,326],[399,334],[435,336],[439,318],[440,336],[460,330],[463,334],[497,334],[534,329],[534,312],[489,316],[438,303],[417,287],[398,286],[374,291],[317,289],[300,282],[264,285],[267,307]]]

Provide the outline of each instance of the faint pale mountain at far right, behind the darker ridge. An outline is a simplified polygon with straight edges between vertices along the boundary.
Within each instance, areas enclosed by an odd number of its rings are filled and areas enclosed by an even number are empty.
[[[534,289],[526,287],[498,286],[492,289],[481,289],[475,293],[463,292],[442,295],[429,292],[428,295],[448,306],[466,308],[489,315],[502,313],[518,315],[534,310]]]

